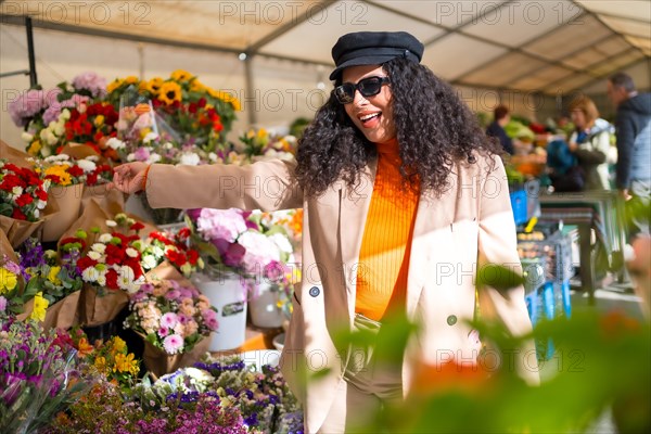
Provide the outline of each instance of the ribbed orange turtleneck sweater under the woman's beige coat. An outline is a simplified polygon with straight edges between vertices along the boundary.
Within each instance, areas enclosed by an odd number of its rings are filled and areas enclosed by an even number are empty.
[[[403,188],[397,141],[376,148],[378,171],[359,253],[355,310],[379,321],[405,303],[419,193]]]

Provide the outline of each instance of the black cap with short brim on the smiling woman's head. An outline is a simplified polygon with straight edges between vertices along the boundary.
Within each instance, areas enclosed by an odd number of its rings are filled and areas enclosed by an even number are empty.
[[[330,79],[336,79],[348,66],[382,65],[403,56],[420,63],[423,44],[407,31],[356,31],[339,38],[332,47],[336,68]]]

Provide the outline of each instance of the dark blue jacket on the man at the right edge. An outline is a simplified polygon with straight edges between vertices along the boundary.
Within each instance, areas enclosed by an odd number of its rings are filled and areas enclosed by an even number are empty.
[[[617,107],[617,188],[651,180],[651,93],[629,98]]]

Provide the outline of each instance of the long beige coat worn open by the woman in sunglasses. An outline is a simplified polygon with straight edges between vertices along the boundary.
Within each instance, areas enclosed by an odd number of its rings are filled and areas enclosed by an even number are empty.
[[[421,321],[403,363],[408,392],[417,362],[455,359],[468,363],[477,347],[464,319],[475,308],[477,267],[500,264],[521,271],[509,189],[499,158],[490,174],[488,159],[458,162],[450,189],[438,199],[421,196],[411,246],[407,314]],[[318,199],[303,195],[292,177],[295,164],[269,161],[251,166],[168,166],[150,169],[146,194],[153,207],[275,210],[303,207],[303,281],[295,291],[290,329],[281,358],[288,382],[302,399],[306,429],[317,432],[343,381],[346,348],[335,348],[331,332],[353,323],[356,263],[359,257],[376,162],[371,162],[357,189],[335,182]],[[500,293],[480,291],[483,317],[499,318],[515,334],[531,331],[522,286]],[[515,356],[515,369],[537,381],[535,352]],[[510,362],[510,366],[512,362]],[[301,373],[330,368],[309,382]]]

